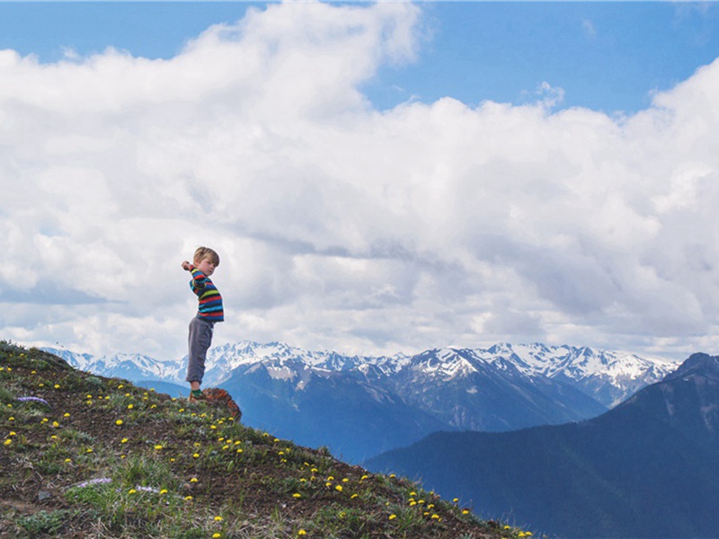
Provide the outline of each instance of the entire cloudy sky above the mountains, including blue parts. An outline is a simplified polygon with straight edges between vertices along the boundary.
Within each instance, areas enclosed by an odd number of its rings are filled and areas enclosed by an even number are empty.
[[[0,3],[0,339],[719,353],[719,4]]]

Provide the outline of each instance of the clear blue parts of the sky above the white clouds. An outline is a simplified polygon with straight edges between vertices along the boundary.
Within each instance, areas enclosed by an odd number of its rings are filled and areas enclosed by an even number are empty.
[[[235,22],[244,2],[0,4],[0,49],[54,62],[108,46],[170,58],[211,24]],[[561,106],[606,112],[646,108],[719,56],[719,4],[672,2],[422,3],[416,61],[386,65],[364,90],[380,109],[451,96],[519,104],[540,84],[564,89]]]

